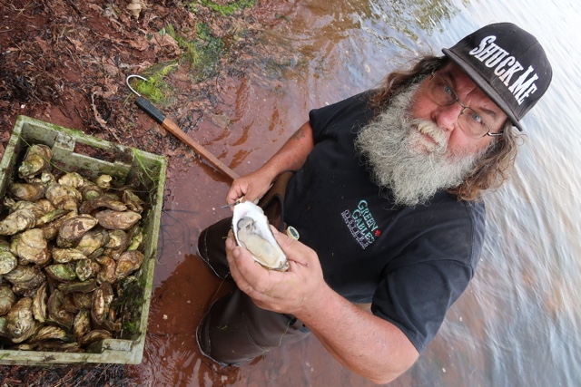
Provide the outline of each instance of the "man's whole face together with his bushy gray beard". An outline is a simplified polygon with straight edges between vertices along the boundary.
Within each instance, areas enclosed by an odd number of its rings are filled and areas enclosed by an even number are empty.
[[[506,115],[465,73],[454,65],[438,73],[458,94],[458,101],[481,115],[492,132],[500,130]],[[426,203],[438,190],[458,187],[494,140],[490,136],[473,138],[460,129],[461,105],[434,102],[429,78],[395,95],[389,107],[369,121],[355,140],[356,151],[363,156],[372,179],[389,188],[398,205]],[[447,96],[448,86],[442,89]]]

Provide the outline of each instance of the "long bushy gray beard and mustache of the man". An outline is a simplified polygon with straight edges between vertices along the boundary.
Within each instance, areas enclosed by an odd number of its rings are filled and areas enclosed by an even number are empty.
[[[359,131],[355,140],[355,149],[363,156],[373,181],[391,190],[396,205],[412,207],[425,204],[440,189],[458,187],[486,151],[447,153],[442,128],[432,121],[409,117],[418,87],[411,86],[395,96],[389,108]],[[437,143],[428,143],[419,131]]]

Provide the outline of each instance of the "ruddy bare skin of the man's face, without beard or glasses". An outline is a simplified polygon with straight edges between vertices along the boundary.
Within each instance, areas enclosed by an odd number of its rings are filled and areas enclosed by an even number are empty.
[[[458,101],[464,106],[478,112],[478,115],[487,123],[492,132],[499,132],[507,120],[507,114],[501,111],[487,95],[480,90],[467,73],[464,73],[457,64],[449,63],[446,67],[438,70],[445,82],[458,95]],[[494,139],[484,136],[474,139],[467,135],[458,126],[458,115],[462,111],[462,105],[454,102],[447,106],[440,106],[434,102],[428,92],[428,77],[419,85],[418,91],[414,94],[413,103],[409,110],[409,115],[420,120],[432,121],[441,129],[439,133],[420,132],[418,136],[417,148],[419,152],[429,152],[434,149],[435,141],[446,142],[446,154],[448,157],[458,157],[462,155],[478,153],[487,149]]]

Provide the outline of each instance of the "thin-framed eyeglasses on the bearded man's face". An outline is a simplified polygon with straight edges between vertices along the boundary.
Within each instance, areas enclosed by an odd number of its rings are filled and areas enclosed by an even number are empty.
[[[492,133],[490,127],[476,111],[460,102],[456,92],[440,74],[431,73],[431,78],[428,81],[428,93],[431,100],[440,106],[448,106],[454,102],[458,102],[462,106],[462,110],[458,114],[458,125],[469,137],[480,139],[484,136],[502,136],[502,133]]]

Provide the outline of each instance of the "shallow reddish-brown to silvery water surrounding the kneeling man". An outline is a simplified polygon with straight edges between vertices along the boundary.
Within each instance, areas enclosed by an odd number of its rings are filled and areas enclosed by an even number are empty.
[[[581,379],[581,5],[575,0],[296,2],[264,44],[272,53],[248,79],[223,83],[231,124],[204,121],[193,135],[232,169],[257,169],[310,109],[376,85],[410,56],[438,52],[487,23],[511,21],[535,34],[554,81],[524,120],[516,172],[487,194],[487,239],[478,273],[440,334],[396,386],[573,386]],[[270,5],[270,12],[281,10]],[[577,119],[575,118],[577,117]],[[159,264],[143,364],[146,386],[372,385],[345,370],[316,339],[241,367],[203,358],[194,331],[231,286],[196,256],[198,233],[229,215],[227,179],[201,163],[170,166]]]

